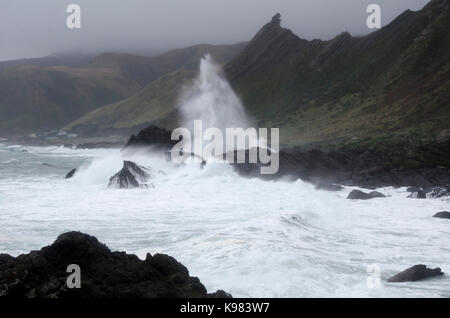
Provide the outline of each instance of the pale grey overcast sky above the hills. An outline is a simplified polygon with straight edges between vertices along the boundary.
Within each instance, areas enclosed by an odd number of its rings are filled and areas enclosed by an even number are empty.
[[[150,54],[198,43],[247,41],[276,13],[305,39],[343,31],[369,33],[366,7],[382,25],[428,0],[1,0],[0,61],[57,52]],[[81,7],[81,29],[68,29],[66,8]]]

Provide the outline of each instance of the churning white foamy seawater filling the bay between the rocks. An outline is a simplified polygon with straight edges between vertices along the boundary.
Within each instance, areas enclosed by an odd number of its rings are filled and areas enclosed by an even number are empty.
[[[125,159],[167,175],[154,188],[108,189]],[[347,200],[352,189],[243,178],[220,162],[180,167],[158,153],[0,144],[0,253],[77,230],[141,258],[171,255],[208,290],[235,297],[450,297],[450,222],[432,217],[448,199],[383,188],[387,198]],[[415,264],[446,275],[386,283]],[[367,284],[371,265],[380,288]]]

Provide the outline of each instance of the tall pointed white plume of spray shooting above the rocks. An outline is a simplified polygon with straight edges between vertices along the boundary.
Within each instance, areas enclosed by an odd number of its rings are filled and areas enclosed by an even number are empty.
[[[209,54],[200,60],[200,72],[193,83],[185,87],[178,109],[183,127],[191,132],[194,120],[202,121],[203,130],[218,128],[224,136],[227,128],[251,127],[239,97]],[[251,142],[257,143],[257,140]]]

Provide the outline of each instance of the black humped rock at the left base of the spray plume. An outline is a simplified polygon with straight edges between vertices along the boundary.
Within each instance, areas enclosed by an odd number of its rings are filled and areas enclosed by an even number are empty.
[[[123,150],[129,148],[153,147],[170,150],[178,140],[171,140],[170,130],[151,125],[142,129],[137,135],[132,135]]]

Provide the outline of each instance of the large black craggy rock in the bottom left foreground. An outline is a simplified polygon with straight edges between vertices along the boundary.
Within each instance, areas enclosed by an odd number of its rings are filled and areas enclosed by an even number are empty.
[[[16,258],[2,254],[0,259],[0,297],[231,297],[223,291],[207,294],[199,279],[170,256],[147,254],[143,261],[111,252],[80,232],[62,234],[40,251]],[[70,264],[80,267],[80,288],[67,287]]]

